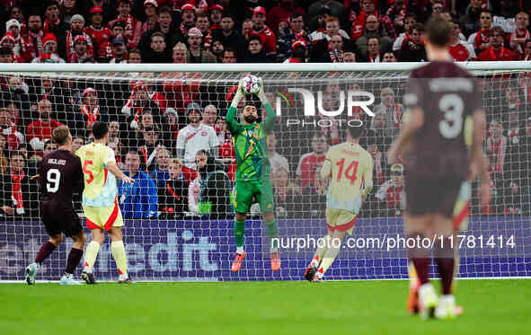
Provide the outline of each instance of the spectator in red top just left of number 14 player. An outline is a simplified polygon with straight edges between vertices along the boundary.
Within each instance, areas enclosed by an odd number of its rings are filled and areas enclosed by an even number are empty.
[[[326,151],[328,150],[328,144],[326,137],[321,133],[316,132],[311,137],[312,152],[303,154],[296,167],[296,184],[304,189],[308,184],[314,184],[315,181],[315,164],[323,163]]]

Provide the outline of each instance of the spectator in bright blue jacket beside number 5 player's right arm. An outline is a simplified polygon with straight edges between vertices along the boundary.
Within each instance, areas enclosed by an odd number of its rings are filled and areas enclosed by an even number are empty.
[[[124,173],[135,183],[119,181],[119,207],[124,218],[155,218],[158,198],[153,179],[140,170],[140,156],[136,150],[126,154]]]

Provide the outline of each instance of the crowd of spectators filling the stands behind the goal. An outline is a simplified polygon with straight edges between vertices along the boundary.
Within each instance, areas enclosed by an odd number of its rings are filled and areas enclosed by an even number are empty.
[[[433,13],[453,23],[451,55],[465,60],[531,60],[527,1],[6,1],[0,62],[234,63],[393,62],[426,60],[422,43]],[[200,74],[97,81],[72,77],[0,77],[0,205],[5,217],[37,216],[31,181],[51,131],[72,129],[75,149],[91,140],[96,121],[110,122],[109,145],[133,186],[119,185],[125,218],[231,216],[235,153],[225,113],[234,90],[204,84]],[[531,75],[485,76],[489,126],[484,147],[494,197],[483,215],[529,215],[531,208]],[[322,86],[321,86],[322,85]],[[359,84],[319,84],[323,109]],[[402,216],[401,163],[386,152],[402,124],[403,87],[396,81],[362,86],[376,96],[376,116],[360,110],[362,139],[375,159],[375,188],[365,216]],[[279,103],[270,88],[270,101]],[[276,106],[274,106],[276,109]],[[292,106],[300,108],[300,103]],[[315,178],[330,145],[345,140],[331,127],[288,129],[268,139],[279,217],[323,217],[327,185]],[[280,136],[281,134],[281,136]],[[476,181],[473,181],[477,183]],[[258,211],[257,211],[258,213]]]

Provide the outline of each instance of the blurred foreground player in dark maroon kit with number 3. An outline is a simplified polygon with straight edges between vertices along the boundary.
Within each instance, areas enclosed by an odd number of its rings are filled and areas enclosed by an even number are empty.
[[[431,63],[412,71],[404,104],[401,134],[389,150],[389,161],[403,154],[407,210],[405,234],[416,241],[437,236],[434,243],[442,279],[440,300],[429,283],[431,250],[416,245],[408,250],[419,280],[420,310],[424,317],[449,319],[456,315],[452,295],[455,255],[453,211],[463,181],[479,167],[482,201],[489,200],[489,176],[482,160],[485,117],[481,92],[473,76],[452,62],[447,47],[451,30],[446,19],[429,21],[426,50]],[[434,191],[438,190],[438,191]]]

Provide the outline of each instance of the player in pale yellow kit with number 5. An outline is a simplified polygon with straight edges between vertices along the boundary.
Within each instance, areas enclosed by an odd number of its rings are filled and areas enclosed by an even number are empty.
[[[107,231],[111,236],[111,254],[118,268],[118,282],[129,284],[131,279],[128,277],[128,259],[122,241],[123,218],[118,206],[116,177],[124,182],[135,181],[119,171],[114,151],[106,145],[109,139],[107,123],[94,123],[93,135],[93,143],[75,152],[81,158],[84,172],[83,210],[86,227],[93,235],[93,240],[86,246],[81,277],[87,284],[95,284],[94,262]]]

